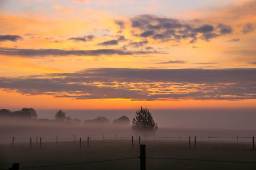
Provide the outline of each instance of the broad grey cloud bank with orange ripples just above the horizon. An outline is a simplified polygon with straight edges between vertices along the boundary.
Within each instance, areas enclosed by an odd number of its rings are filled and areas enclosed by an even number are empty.
[[[95,68],[75,73],[0,77],[0,88],[75,99],[256,99],[255,75],[255,68]]]

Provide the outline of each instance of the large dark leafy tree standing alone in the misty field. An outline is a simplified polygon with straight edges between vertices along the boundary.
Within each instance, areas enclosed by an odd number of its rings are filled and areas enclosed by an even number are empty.
[[[132,123],[132,128],[134,130],[157,130],[157,124],[154,122],[153,116],[147,108],[140,107],[140,109],[136,111]]]

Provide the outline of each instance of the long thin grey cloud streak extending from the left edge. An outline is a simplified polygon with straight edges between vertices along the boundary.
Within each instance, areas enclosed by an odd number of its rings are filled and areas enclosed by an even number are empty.
[[[0,55],[20,56],[20,57],[45,57],[45,56],[100,56],[100,55],[135,55],[153,54],[157,51],[122,51],[116,49],[98,50],[61,50],[61,49],[20,49],[1,48]]]

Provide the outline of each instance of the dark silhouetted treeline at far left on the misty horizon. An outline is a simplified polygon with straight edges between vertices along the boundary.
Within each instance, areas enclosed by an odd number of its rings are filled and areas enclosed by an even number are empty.
[[[26,118],[26,119],[36,119],[38,117],[35,109],[33,108],[23,108],[19,111],[10,111],[9,109],[1,109],[0,116]]]

